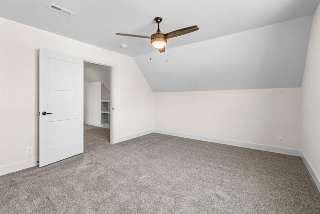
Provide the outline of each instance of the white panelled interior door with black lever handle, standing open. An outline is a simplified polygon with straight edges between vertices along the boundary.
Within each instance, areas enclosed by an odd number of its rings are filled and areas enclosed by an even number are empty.
[[[83,153],[83,61],[39,50],[39,167]]]

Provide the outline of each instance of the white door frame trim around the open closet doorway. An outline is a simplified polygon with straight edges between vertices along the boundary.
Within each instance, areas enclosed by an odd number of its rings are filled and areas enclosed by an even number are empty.
[[[113,106],[114,106],[114,83],[115,83],[115,66],[113,63],[109,63],[109,62],[106,62],[104,60],[99,60],[99,59],[94,59],[94,58],[91,58],[91,57],[86,57],[86,56],[81,56],[81,55],[78,55],[78,58],[81,59],[83,62],[88,62],[88,63],[93,63],[93,64],[97,64],[97,65],[103,65],[103,66],[108,66],[108,67],[111,67],[111,72],[110,72],[110,89],[111,89],[111,93],[110,93],[110,101],[111,101],[111,106],[110,106],[110,143],[114,143],[114,122],[115,122],[115,117],[114,117],[114,109],[113,109]],[[82,69],[82,72],[83,72],[83,69]]]

